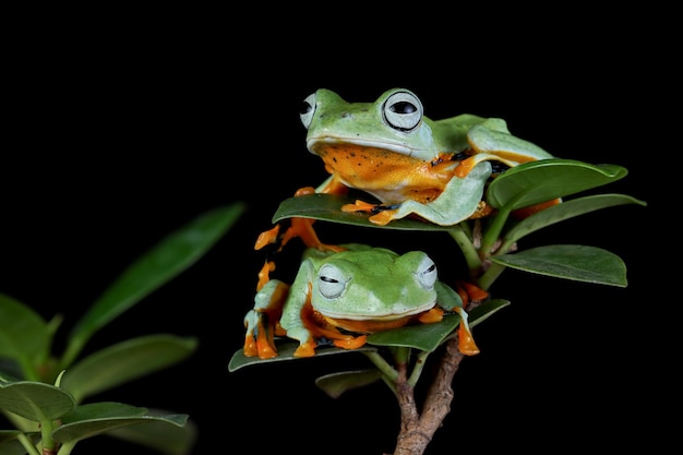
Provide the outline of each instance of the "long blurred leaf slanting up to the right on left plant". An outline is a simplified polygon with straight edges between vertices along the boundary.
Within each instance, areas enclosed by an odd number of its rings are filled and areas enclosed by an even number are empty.
[[[235,203],[204,213],[123,271],[72,330],[62,367],[65,369],[73,362],[93,333],[194,264],[243,211],[242,203]]]

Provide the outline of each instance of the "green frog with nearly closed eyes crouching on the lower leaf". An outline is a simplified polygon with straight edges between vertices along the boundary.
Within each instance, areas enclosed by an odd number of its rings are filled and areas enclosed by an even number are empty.
[[[322,338],[356,349],[366,344],[368,334],[441,321],[444,311],[462,316],[460,351],[479,352],[463,302],[482,300],[486,291],[458,289],[460,298],[450,298],[453,292],[422,251],[397,254],[360,243],[340,247],[339,252],[307,249],[291,285],[268,279],[259,289],[244,316],[244,356],[276,357],[276,336],[299,342],[295,357],[313,356]]]

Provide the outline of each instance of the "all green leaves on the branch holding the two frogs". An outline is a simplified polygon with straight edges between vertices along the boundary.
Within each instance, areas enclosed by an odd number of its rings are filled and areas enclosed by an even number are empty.
[[[604,249],[582,244],[550,244],[527,250],[517,248],[517,242],[525,236],[579,215],[624,204],[647,205],[625,194],[594,194],[589,191],[615,182],[626,175],[627,170],[622,166],[592,165],[573,159],[551,158],[525,163],[506,170],[488,184],[484,200],[494,208],[490,216],[453,226],[440,226],[408,217],[393,220],[386,226],[376,226],[369,221],[367,215],[340,211],[344,204],[354,202],[351,199],[321,193],[283,201],[273,221],[303,217],[376,229],[446,231],[465,258],[469,273],[467,279],[484,290],[490,289],[507,268],[561,279],[626,287],[625,264],[621,258]],[[559,203],[518,216],[522,211],[549,201]],[[491,298],[471,309],[470,327],[507,304],[510,301],[505,299]],[[317,349],[316,356],[360,352],[376,368],[329,374],[320,378],[316,384],[333,397],[376,380],[383,380],[394,390],[393,384],[398,375],[395,367],[406,364],[412,358],[415,361],[409,384],[415,385],[427,357],[456,336],[459,323],[458,314],[450,314],[439,323],[372,334],[368,336],[367,345],[357,350],[334,347]],[[236,351],[230,359],[229,370],[293,360],[295,344],[285,338],[279,342],[278,356],[273,359],[248,358],[241,350]],[[385,357],[387,354],[391,358],[388,361]]]

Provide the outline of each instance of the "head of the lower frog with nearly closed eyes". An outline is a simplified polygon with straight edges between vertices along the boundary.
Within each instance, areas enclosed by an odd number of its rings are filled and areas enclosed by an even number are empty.
[[[372,333],[432,309],[436,279],[434,262],[421,251],[344,251],[319,264],[311,303],[333,324]]]

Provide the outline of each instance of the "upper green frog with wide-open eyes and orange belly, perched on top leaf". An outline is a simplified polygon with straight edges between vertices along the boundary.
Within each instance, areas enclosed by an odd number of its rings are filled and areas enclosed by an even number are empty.
[[[464,113],[431,120],[406,88],[386,91],[374,103],[347,103],[321,88],[305,98],[300,117],[308,129],[307,148],[323,159],[331,176],[296,195],[364,191],[381,204],[359,200],[342,209],[369,212],[370,221],[380,226],[406,216],[442,226],[486,216],[492,208],[483,192],[499,169],[552,158],[512,135],[503,119]],[[300,237],[308,247],[325,247],[312,223],[295,219],[283,244]],[[278,235],[277,227],[263,232],[256,249],[275,242]]]

